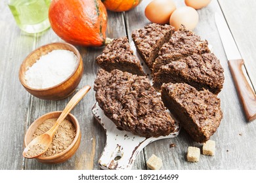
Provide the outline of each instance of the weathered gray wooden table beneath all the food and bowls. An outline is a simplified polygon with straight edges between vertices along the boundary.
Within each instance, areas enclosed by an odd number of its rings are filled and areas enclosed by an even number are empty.
[[[148,24],[144,8],[149,1],[144,0],[129,12],[108,12],[108,37],[127,35],[131,41],[131,31]],[[176,0],[177,7],[184,6]],[[215,12],[224,13],[228,25],[245,59],[247,73],[256,86],[256,1],[253,0],[213,0],[202,10],[200,22],[195,32],[207,39],[224,67],[224,88],[219,97],[223,109],[223,120],[211,139],[217,142],[216,155],[201,156],[200,162],[188,163],[188,146],[201,146],[193,142],[185,131],[174,139],[152,142],[137,157],[133,169],[147,169],[146,160],[152,155],[163,159],[162,169],[256,169],[256,121],[246,122],[228,69],[221,39],[215,25]],[[70,98],[61,101],[37,99],[26,92],[18,80],[18,70],[22,60],[35,48],[50,42],[61,41],[52,29],[35,35],[27,35],[18,29],[7,5],[0,2],[0,169],[100,169],[98,159],[106,142],[104,129],[93,118],[91,108],[95,103],[95,92],[91,90],[72,110],[81,125],[81,145],[65,163],[46,165],[35,159],[24,159],[23,139],[29,125],[39,116],[54,110],[62,110]],[[93,86],[98,66],[95,58],[102,48],[77,47],[83,57],[84,73],[78,88]],[[174,148],[169,144],[174,143]]]

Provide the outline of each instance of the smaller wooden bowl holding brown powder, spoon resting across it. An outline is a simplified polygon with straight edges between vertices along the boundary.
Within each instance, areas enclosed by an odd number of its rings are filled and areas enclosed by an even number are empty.
[[[62,111],[49,112],[37,118],[37,120],[35,120],[32,123],[32,125],[30,125],[30,127],[28,128],[28,131],[26,132],[26,135],[24,137],[24,145],[28,146],[28,144],[32,141],[33,133],[35,133],[35,130],[39,125],[41,125],[47,119],[58,118],[61,112]],[[48,163],[48,164],[63,163],[64,161],[70,159],[75,154],[77,148],[79,147],[79,144],[81,141],[81,131],[80,131],[79,122],[77,121],[75,116],[72,114],[68,114],[66,119],[72,122],[75,126],[76,134],[75,134],[74,141],[72,142],[72,144],[70,144],[70,146],[68,146],[68,148],[66,148],[66,150],[60,152],[59,154],[56,154],[54,156],[49,156],[49,157],[39,156],[38,158],[36,158],[41,163]]]

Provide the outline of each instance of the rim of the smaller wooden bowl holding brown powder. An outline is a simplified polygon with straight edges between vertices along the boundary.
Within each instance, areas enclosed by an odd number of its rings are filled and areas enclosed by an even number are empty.
[[[43,118],[45,116],[51,116],[51,114],[54,114],[54,113],[59,113],[58,116],[60,116],[62,110],[58,110],[58,111],[54,111],[54,112],[48,112],[47,114],[43,114],[42,116],[40,116],[39,118],[37,118],[35,121],[33,121],[33,123],[30,125],[30,127],[28,127],[28,130],[26,131],[26,134],[25,134],[25,137],[24,137],[24,145],[27,146],[27,139],[28,139],[28,131],[30,131],[30,128],[32,127],[32,125],[36,125],[38,126],[38,122],[41,122],[39,119],[40,118]],[[81,133],[81,130],[80,130],[80,125],[79,125],[79,122],[77,120],[77,118],[75,118],[75,116],[71,113],[68,114],[68,116],[70,116],[71,118],[74,118],[74,122],[72,122],[74,125],[76,125],[76,133],[75,133],[75,138],[73,140],[73,142],[70,144],[70,146],[68,146],[68,148],[66,148],[66,150],[58,153],[58,154],[55,154],[54,156],[47,156],[47,157],[43,157],[43,156],[39,156],[38,158],[36,159],[40,159],[40,160],[51,160],[51,159],[56,159],[56,158],[60,158],[62,156],[64,156],[67,152],[69,152],[73,146],[75,145],[75,143],[79,140],[79,137],[81,138],[81,135],[79,135]],[[51,118],[49,118],[51,119]],[[34,122],[37,122],[36,124],[34,124]]]

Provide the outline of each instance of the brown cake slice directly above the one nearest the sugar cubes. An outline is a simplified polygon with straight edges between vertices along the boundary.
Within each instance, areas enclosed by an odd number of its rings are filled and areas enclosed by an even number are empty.
[[[171,61],[154,74],[154,87],[160,90],[163,83],[187,83],[196,88],[219,93],[223,88],[224,74],[219,59],[212,53],[193,54],[178,61]]]

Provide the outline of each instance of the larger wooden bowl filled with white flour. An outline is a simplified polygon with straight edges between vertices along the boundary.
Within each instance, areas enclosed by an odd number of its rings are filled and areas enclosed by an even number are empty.
[[[51,88],[44,88],[44,89],[35,89],[31,88],[26,84],[25,74],[29,67],[33,65],[41,56],[48,54],[53,50],[70,50],[74,52],[75,56],[77,56],[77,66],[75,67],[75,71],[70,75],[66,80],[53,86]],[[40,99],[47,99],[47,100],[60,100],[68,97],[71,95],[75,88],[77,88],[81,78],[83,76],[83,61],[81,59],[81,55],[79,51],[73,46],[72,44],[68,44],[66,42],[54,42],[51,44],[46,44],[33,50],[22,62],[20,65],[20,72],[19,78],[22,86],[30,92],[35,97]]]

